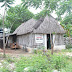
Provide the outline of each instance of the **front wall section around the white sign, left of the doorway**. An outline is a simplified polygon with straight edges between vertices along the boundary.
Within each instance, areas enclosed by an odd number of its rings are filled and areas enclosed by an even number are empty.
[[[43,43],[36,43],[35,41],[35,35],[43,35]],[[44,46],[45,49],[47,49],[47,36],[46,34],[31,34],[30,35],[30,46],[34,47],[42,47]]]

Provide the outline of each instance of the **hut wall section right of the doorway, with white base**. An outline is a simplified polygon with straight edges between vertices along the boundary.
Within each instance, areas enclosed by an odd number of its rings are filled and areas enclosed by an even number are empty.
[[[54,50],[65,49],[64,39],[62,34],[53,35]]]

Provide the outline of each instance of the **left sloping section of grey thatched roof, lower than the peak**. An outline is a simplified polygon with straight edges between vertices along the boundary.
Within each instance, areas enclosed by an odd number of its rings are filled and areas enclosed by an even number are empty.
[[[36,20],[33,18],[28,20],[27,22],[21,24],[14,32],[13,34],[22,35],[27,34],[33,31],[33,26],[35,25]]]

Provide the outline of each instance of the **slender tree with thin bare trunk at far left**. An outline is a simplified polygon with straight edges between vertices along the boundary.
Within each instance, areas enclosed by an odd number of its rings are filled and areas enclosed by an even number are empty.
[[[10,7],[10,4],[13,4],[14,0],[0,0],[4,4],[1,7],[5,6],[4,15],[3,15],[3,49],[4,49],[4,57],[5,57],[5,32],[4,32],[4,19],[5,19],[5,12],[7,7]]]

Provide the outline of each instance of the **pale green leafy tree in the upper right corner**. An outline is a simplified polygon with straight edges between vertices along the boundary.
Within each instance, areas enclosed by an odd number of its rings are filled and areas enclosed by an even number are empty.
[[[59,6],[56,9],[58,17],[70,15],[72,13],[72,0],[61,0]]]

